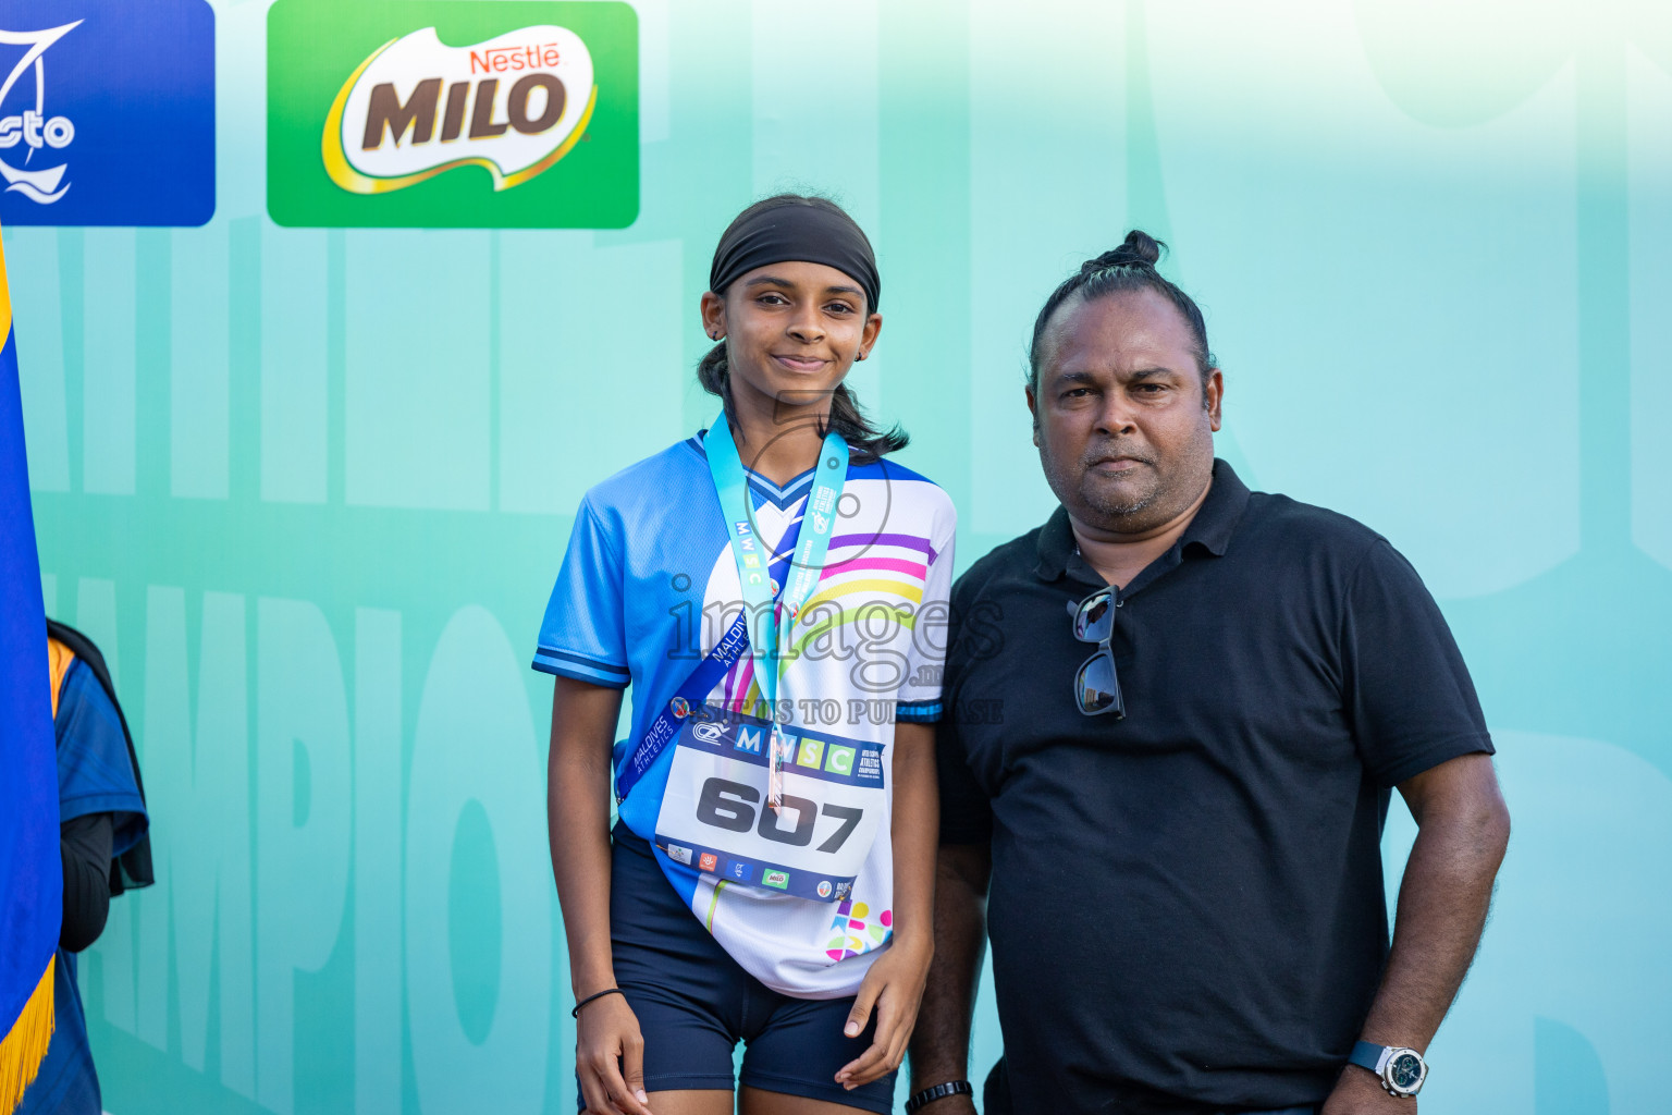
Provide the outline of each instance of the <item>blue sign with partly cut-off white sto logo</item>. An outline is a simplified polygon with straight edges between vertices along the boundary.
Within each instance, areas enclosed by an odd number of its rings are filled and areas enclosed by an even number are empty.
[[[206,0],[0,8],[0,222],[197,226],[214,216]]]

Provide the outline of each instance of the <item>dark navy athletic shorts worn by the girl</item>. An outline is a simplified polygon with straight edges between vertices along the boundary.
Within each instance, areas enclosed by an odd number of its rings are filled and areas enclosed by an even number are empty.
[[[853,998],[798,1000],[744,971],[681,901],[650,846],[615,826],[610,946],[615,981],[644,1033],[645,1092],[737,1083],[888,1115],[895,1073],[848,1092],[836,1072],[871,1046],[871,1023],[843,1033]],[[744,1043],[742,1073],[732,1051]],[[585,1107],[585,1097],[577,1097]]]

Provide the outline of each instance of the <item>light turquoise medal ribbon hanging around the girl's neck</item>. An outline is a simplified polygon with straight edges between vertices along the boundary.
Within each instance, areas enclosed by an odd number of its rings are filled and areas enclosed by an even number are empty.
[[[749,480],[724,413],[709,428],[704,448],[709,456],[709,475],[714,476],[714,491],[721,498],[721,513],[726,515],[732,558],[737,562],[737,583],[742,587],[754,677],[761,687],[761,699],[766,702],[767,719],[772,722],[766,802],[777,811],[784,802],[784,751],[789,746],[784,741],[782,717],[777,710],[777,684],[784,670],[779,652],[789,645],[791,629],[824,572],[824,555],[829,552],[831,532],[836,527],[836,505],[848,476],[848,443],[834,430],[824,435],[818,470],[813,475],[813,490],[808,493],[808,503],[801,515],[796,555],[789,562],[782,592],[767,573],[772,555],[754,537]]]

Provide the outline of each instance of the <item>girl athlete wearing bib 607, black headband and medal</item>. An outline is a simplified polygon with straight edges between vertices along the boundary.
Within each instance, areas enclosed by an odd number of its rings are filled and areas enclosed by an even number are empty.
[[[535,669],[587,1112],[722,1115],[739,1083],[744,1115],[891,1110],[931,950],[953,508],[843,386],[879,286],[836,204],[739,214],[702,296],[719,416],[575,517]]]

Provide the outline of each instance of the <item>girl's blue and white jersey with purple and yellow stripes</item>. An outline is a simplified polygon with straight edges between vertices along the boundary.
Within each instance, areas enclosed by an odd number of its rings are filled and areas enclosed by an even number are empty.
[[[774,580],[782,583],[813,471],[784,488],[757,473],[749,473],[747,481],[754,535],[771,557]],[[761,873],[742,858],[726,856],[727,841],[744,839],[737,832],[751,827],[757,811],[766,811],[764,766],[729,757],[714,757],[711,764],[699,749],[667,747],[620,804],[622,821],[659,844],[662,871],[726,951],[769,988],[801,998],[858,991],[876,951],[891,936],[895,720],[928,722],[941,715],[956,525],[951,500],[940,486],[888,460],[849,465],[838,515],[824,572],[784,652],[777,705],[789,712],[788,772],[834,779],[831,772],[848,771],[854,762],[881,761],[876,771],[881,792],[874,794],[874,806],[866,806],[866,812],[874,809],[879,816],[864,817],[858,829],[873,836],[851,893],[844,884],[834,901],[813,901],[774,891],[788,886],[788,871]],[[632,732],[615,747],[619,772],[632,746],[741,607],[737,563],[702,438],[689,438],[622,470],[582,498],[533,665],[595,685],[632,682]],[[757,694],[754,660],[744,654],[712,687],[707,702],[747,710]],[[749,742],[742,732],[727,737],[726,747]],[[757,749],[754,757],[761,762]],[[716,772],[724,777],[704,779]],[[670,792],[670,777],[679,792]],[[712,791],[716,784],[736,789],[717,812],[664,814],[664,799],[684,807],[699,797],[699,789]],[[751,796],[761,804],[751,804]],[[853,821],[843,826],[824,814],[818,816],[818,827],[811,816],[793,809],[779,821],[788,824],[788,817],[798,817],[796,827],[804,829],[794,849],[798,864],[816,861],[821,849],[839,846],[854,831]],[[667,836],[687,831],[701,836],[702,826],[716,821],[712,839],[687,843]],[[769,831],[767,819],[759,827],[784,839]],[[818,886],[829,894],[823,881]]]

